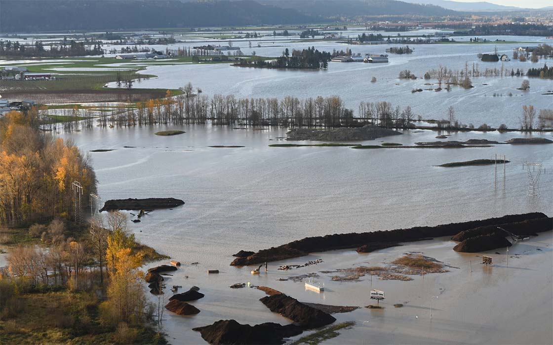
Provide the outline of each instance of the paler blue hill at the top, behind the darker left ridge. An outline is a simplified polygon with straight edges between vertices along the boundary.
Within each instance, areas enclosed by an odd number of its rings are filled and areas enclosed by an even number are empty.
[[[375,15],[420,15],[442,17],[459,13],[432,5],[394,0],[259,0],[263,4],[296,9],[306,15],[325,18],[366,17]]]

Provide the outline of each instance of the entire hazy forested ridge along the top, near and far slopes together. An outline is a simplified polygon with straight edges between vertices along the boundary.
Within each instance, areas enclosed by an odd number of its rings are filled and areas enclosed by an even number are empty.
[[[309,24],[375,15],[462,15],[437,6],[394,0],[2,0],[1,7],[3,33]]]

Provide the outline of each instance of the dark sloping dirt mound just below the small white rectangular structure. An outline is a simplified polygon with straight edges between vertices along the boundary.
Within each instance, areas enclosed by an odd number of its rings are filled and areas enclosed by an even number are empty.
[[[260,301],[262,301],[270,311],[278,312],[280,315],[293,320],[306,329],[319,328],[336,321],[330,314],[303,304],[295,298],[291,298],[285,294],[266,296],[260,299]]]

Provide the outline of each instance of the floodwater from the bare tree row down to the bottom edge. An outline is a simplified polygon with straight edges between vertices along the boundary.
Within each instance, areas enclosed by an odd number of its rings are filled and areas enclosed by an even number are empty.
[[[155,131],[169,129],[180,129],[186,133],[169,137],[154,135]],[[116,149],[91,152],[98,177],[98,194],[103,200],[174,197],[185,201],[185,205],[173,210],[155,210],[142,217],[140,223],[129,222],[129,229],[139,241],[183,264],[173,277],[167,277],[168,288],[175,284],[182,285],[183,289],[197,285],[206,295],[204,299],[193,302],[201,310],[196,316],[181,317],[165,312],[164,331],[168,333],[171,343],[205,343],[199,333],[191,328],[221,319],[250,324],[290,322],[270,312],[258,301],[263,296],[261,291],[229,289],[228,285],[234,283],[272,286],[302,301],[367,305],[367,293],[371,288],[369,277],[357,283],[336,283],[330,280],[332,274],[319,273],[321,283],[326,286],[325,293],[321,295],[304,291],[301,282],[279,282],[277,279],[323,269],[347,268],[366,264],[367,261],[378,265],[381,261],[391,261],[405,251],[423,251],[452,266],[462,266],[462,270],[452,269],[451,273],[427,276],[424,281],[417,277],[413,282],[383,282],[374,278],[373,288],[385,290],[390,296],[387,309],[383,314],[360,309],[338,315],[338,320],[355,320],[357,326],[343,331],[342,338],[329,343],[361,343],[362,339],[366,339],[369,331],[366,327],[369,326],[371,334],[376,332],[374,330],[382,330],[374,333],[369,343],[523,341],[521,336],[504,338],[510,330],[508,326],[515,325],[515,319],[509,322],[505,319],[507,312],[512,312],[508,308],[508,296],[516,290],[509,286],[526,288],[530,281],[542,284],[530,284],[530,288],[551,286],[550,265],[546,264],[551,256],[550,249],[547,249],[551,244],[550,237],[541,240],[540,236],[535,240],[545,241],[545,245],[541,246],[547,257],[545,261],[525,259],[524,267],[528,270],[494,268],[495,275],[492,277],[483,274],[478,266],[479,273],[473,273],[469,288],[474,295],[482,297],[474,299],[463,292],[463,285],[460,284],[468,277],[468,261],[472,259],[474,264],[479,258],[453,252],[453,243],[447,240],[444,243],[410,243],[369,256],[359,255],[353,250],[314,253],[309,257],[270,263],[269,274],[259,276],[249,273],[253,267],[237,268],[229,266],[229,263],[233,259],[232,254],[239,250],[259,250],[306,236],[435,225],[529,211],[551,214],[551,145],[382,150],[268,147],[269,144],[282,142],[277,138],[284,135],[284,129],[233,130],[226,126],[198,125],[95,128],[61,134],[66,139],[74,140],[84,151]],[[433,131],[411,131],[363,143],[388,141],[409,145],[416,141],[435,140],[436,135],[437,132]],[[468,132],[453,134],[450,139],[504,141],[520,136],[519,133]],[[544,136],[551,137],[550,134]],[[246,147],[207,147],[212,145]],[[495,153],[506,155],[512,161],[505,166],[505,190],[502,184],[503,166],[498,166],[497,189],[494,188],[494,166],[435,167],[447,162],[491,158]],[[526,161],[541,162],[545,166],[545,171],[541,171],[539,197],[527,195],[528,171],[523,169]],[[288,272],[276,270],[280,264],[302,264],[316,258],[322,258],[324,263]],[[199,264],[190,265],[193,262]],[[522,262],[517,262],[517,267],[521,267]],[[221,273],[208,275],[208,269],[219,269]],[[502,286],[499,292],[502,296],[508,295],[505,300],[489,300],[498,293],[494,290],[495,286]],[[529,293],[529,296],[532,298],[531,305],[536,306],[536,312],[539,311],[536,315],[541,319],[528,319],[526,323],[529,325],[547,325],[551,321],[551,308],[548,309],[547,304],[551,299],[544,296],[547,289],[538,290]],[[432,295],[439,293],[444,295],[440,295],[441,300],[435,305],[435,321],[430,323],[427,303]],[[459,297],[461,293],[462,299]],[[166,291],[166,298],[170,294]],[[158,302],[156,298],[152,301]],[[397,302],[407,302],[408,307],[396,310],[392,304]],[[491,305],[493,309],[490,309]],[[514,311],[512,315],[515,318],[521,316]],[[520,320],[516,320],[516,325],[519,325]],[[474,322],[481,325],[476,326]],[[427,332],[432,327],[436,332]],[[528,339],[533,343],[549,342],[545,328],[531,328],[536,332]],[[472,333],[467,336],[463,330]],[[528,332],[524,335],[528,336]]]

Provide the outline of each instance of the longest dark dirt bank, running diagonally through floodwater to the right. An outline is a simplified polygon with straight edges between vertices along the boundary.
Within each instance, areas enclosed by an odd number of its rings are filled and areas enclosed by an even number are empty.
[[[547,217],[543,213],[526,213],[506,215],[498,218],[488,218],[460,223],[450,223],[437,226],[418,226],[410,229],[389,231],[374,231],[363,233],[338,233],[324,237],[306,237],[302,240],[286,243],[279,247],[260,250],[248,257],[234,259],[231,266],[245,266],[263,262],[278,261],[305,256],[313,252],[326,252],[338,249],[356,248],[374,242],[412,242],[428,237],[454,236],[461,231],[482,226],[502,225]]]

